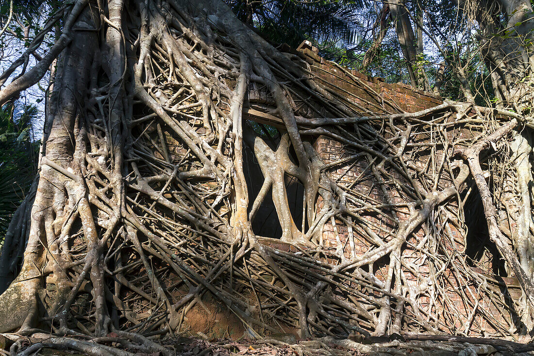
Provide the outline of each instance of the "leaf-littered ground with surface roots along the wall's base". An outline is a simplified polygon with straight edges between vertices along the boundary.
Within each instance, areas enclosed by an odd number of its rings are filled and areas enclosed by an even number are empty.
[[[9,335],[8,335],[9,336]],[[213,338],[203,335],[204,338],[187,338],[183,336],[174,336],[157,340],[163,345],[170,354],[183,356],[224,356],[224,355],[278,355],[278,356],[348,356],[348,355],[437,355],[437,356],[505,356],[505,355],[534,355],[534,344],[520,344],[497,339],[475,339],[460,338],[453,336],[442,336],[441,340],[428,340],[429,335],[413,335],[413,338],[420,337],[420,340],[401,340],[389,338],[359,339],[358,342],[350,339],[334,339],[332,337],[315,338],[308,340],[295,340],[293,335],[279,334],[274,338],[264,340],[253,340],[241,337],[237,340],[230,338]],[[107,339],[116,338],[113,333],[107,335]],[[439,336],[437,337],[439,338]],[[446,340],[445,340],[446,339]],[[470,342],[466,342],[469,340]],[[7,341],[7,342],[6,342]],[[101,340],[103,341],[103,340]],[[33,351],[27,352],[29,346],[41,342],[42,347],[35,347]],[[480,344],[478,344],[480,343]],[[107,343],[109,346],[116,346],[113,342]],[[11,354],[36,354],[36,355],[85,355],[72,350],[58,350],[46,346],[46,340],[37,340],[34,337],[28,337],[22,343],[23,347],[28,347],[26,352],[18,353],[13,344],[3,336],[0,336],[0,354],[10,354],[7,349],[11,347]],[[136,355],[136,356],[159,356],[162,352],[153,353],[134,353],[129,352],[128,347],[121,347],[122,350],[115,349],[119,355]],[[101,352],[101,350],[100,350]],[[102,353],[92,353],[102,354]],[[111,354],[111,353],[109,353]]]

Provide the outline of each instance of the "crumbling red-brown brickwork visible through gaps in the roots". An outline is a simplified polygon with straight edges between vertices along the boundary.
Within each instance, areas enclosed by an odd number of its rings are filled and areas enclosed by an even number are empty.
[[[380,112],[380,104],[384,104],[388,105],[390,109],[397,112],[417,112],[443,103],[442,98],[438,95],[413,88],[404,83],[389,84],[385,83],[382,78],[372,78],[356,71],[350,71],[347,73],[347,71],[341,70],[341,68],[336,64],[321,58],[318,55],[317,48],[313,48],[309,43],[304,42],[299,47],[298,51],[304,55],[301,57],[303,57],[307,63],[310,64],[310,71],[314,75],[323,79],[324,82],[327,83],[327,86],[331,88],[331,90],[336,90],[338,92],[348,91],[356,94],[356,96],[360,98],[357,103],[361,105],[362,108],[368,108],[374,112]],[[376,94],[378,94],[378,96]],[[378,103],[376,100],[377,97],[382,98],[384,100],[383,103]],[[469,132],[458,134],[470,135]],[[342,157],[346,157],[349,154],[354,154],[352,151],[348,152],[350,149],[345,148],[342,143],[326,136],[319,136],[317,138],[315,141],[315,149],[319,153],[319,156],[324,160],[325,164],[340,160]],[[367,167],[361,163],[351,166],[350,162],[348,162],[346,165],[337,166],[337,169],[331,171],[331,176],[334,180],[344,183],[345,186],[352,186],[354,189],[366,190],[368,194],[378,202],[384,202],[383,193],[378,188],[377,184],[375,184],[376,182],[373,182],[372,178],[362,179],[362,173],[366,168]],[[400,177],[398,177],[398,179],[400,179]],[[402,201],[402,198],[395,193],[395,189],[391,189],[391,195],[394,202],[399,203]],[[398,214],[399,220],[407,219],[408,216],[408,211],[406,211],[404,214]],[[381,224],[388,225],[391,223],[388,222],[387,219],[384,219],[383,216],[369,216],[368,222],[370,222],[371,229],[374,230],[374,232],[379,236],[383,236],[383,231],[380,231],[378,227],[373,228],[373,225],[380,226]],[[447,246],[447,249],[456,249],[458,251],[464,250],[464,234],[457,229],[452,228],[452,230],[452,234],[457,237],[458,244],[455,246]],[[421,252],[415,251],[409,246],[417,245],[418,240],[420,240],[424,234],[425,231],[423,231],[422,228],[412,234],[409,244],[403,251],[403,258],[413,261],[422,258]],[[353,246],[355,253],[362,255],[367,252],[370,248],[368,242],[366,242],[365,239],[359,238],[356,231],[352,231],[352,236],[354,236]],[[341,243],[343,246],[345,246],[345,256],[350,258],[350,253],[354,253],[351,252],[352,247],[349,249],[349,231],[347,225],[342,221],[334,221],[333,223],[328,222],[324,227],[322,237],[324,246],[335,249],[335,247]],[[375,275],[378,278],[385,280],[388,268],[387,265],[384,264],[383,266],[378,266],[376,268],[378,270],[376,271]],[[490,278],[492,277],[490,276],[491,265],[486,266],[484,270],[478,270],[478,272],[485,273]],[[432,272],[428,270],[428,268],[423,267],[415,272],[406,272],[405,278],[407,283],[418,285],[422,281],[425,281],[430,273]],[[498,279],[499,281],[496,285],[499,285],[498,288],[502,288],[502,291],[504,291],[504,285],[507,285],[507,295],[509,298],[521,297],[521,289],[519,288],[519,283],[517,282],[516,278],[498,277]],[[488,300],[484,300],[483,298],[479,298],[480,300],[477,300],[476,285],[470,287],[470,290],[459,291],[458,285],[456,284],[456,281],[454,281],[454,278],[450,278],[450,285],[443,286],[444,290],[447,291],[447,297],[457,303],[460,311],[462,309],[465,311],[465,315],[462,315],[461,318],[457,320],[446,320],[444,322],[448,324],[454,324],[457,330],[461,331],[465,329],[466,324],[481,321],[477,320],[478,317],[476,315],[469,315],[469,307],[464,307],[462,305],[462,303],[465,303],[465,300],[461,298],[461,292],[465,292],[465,294],[468,296],[473,296],[471,300],[473,304],[480,303],[480,305],[489,310],[490,313],[493,312],[492,314],[495,315],[494,323],[502,322],[503,317],[497,310],[497,307],[489,305]],[[425,305],[430,308],[432,307],[430,300],[425,301],[424,298],[421,298],[419,303],[423,308],[425,308]],[[509,315],[509,318],[514,318],[514,316]],[[490,333],[495,331],[491,324],[486,324],[484,328]]]

